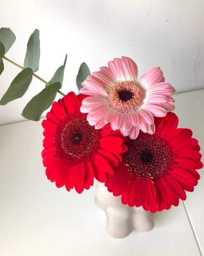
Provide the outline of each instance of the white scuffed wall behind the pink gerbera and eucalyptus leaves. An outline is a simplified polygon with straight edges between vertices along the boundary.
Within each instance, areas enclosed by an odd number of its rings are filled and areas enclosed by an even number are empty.
[[[10,27],[16,42],[8,58],[23,64],[26,44],[40,30],[38,75],[49,80],[68,54],[64,93],[76,90],[82,61],[91,71],[122,55],[132,57],[142,75],[163,69],[178,92],[204,87],[203,0],[1,0],[0,26]],[[5,63],[0,97],[19,72]],[[0,106],[0,124],[23,120],[26,103],[43,88],[35,78],[20,100]]]

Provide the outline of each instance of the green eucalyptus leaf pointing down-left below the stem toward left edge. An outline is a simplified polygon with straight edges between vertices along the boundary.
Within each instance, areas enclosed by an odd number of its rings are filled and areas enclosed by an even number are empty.
[[[0,100],[0,105],[6,105],[8,102],[22,97],[28,90],[32,81],[33,70],[23,69],[12,81],[10,87]]]

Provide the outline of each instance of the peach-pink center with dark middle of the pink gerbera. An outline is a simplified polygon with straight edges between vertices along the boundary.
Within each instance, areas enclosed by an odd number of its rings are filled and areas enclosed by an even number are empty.
[[[110,105],[122,113],[139,108],[144,98],[145,91],[133,82],[115,84],[109,92]]]

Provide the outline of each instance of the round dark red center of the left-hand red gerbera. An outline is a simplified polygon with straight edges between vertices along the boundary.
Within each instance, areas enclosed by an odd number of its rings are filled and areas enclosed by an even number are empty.
[[[91,159],[99,146],[100,131],[79,114],[68,115],[56,128],[54,145],[58,158],[80,162]]]

